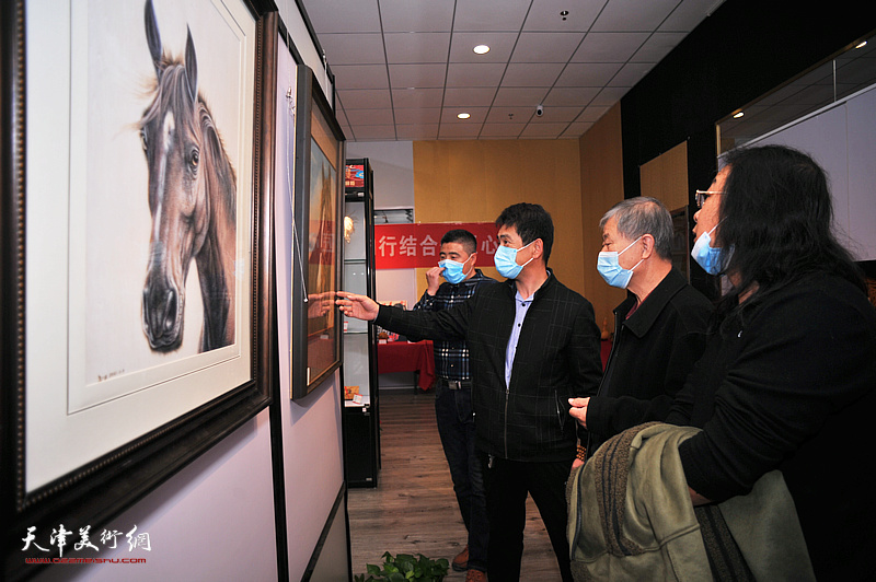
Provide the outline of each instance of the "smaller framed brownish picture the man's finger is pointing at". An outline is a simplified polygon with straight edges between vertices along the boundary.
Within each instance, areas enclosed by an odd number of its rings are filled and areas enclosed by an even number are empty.
[[[298,66],[292,268],[292,398],[303,398],[341,365],[341,241],[344,133],[306,65]]]

